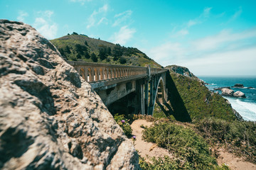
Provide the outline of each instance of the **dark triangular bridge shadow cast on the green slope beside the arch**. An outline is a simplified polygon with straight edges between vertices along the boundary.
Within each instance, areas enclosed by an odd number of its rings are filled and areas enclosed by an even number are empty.
[[[164,111],[166,116],[173,115],[174,118],[181,122],[191,122],[191,117],[188,114],[186,106],[178,93],[178,89],[174,84],[174,80],[172,79],[169,72],[166,73],[166,88],[168,89],[168,101],[169,103],[164,103],[164,106],[161,103],[158,103],[161,110]]]

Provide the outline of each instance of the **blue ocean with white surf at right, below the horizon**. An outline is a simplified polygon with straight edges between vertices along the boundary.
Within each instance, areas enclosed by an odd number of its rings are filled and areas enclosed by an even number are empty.
[[[209,85],[210,91],[214,88],[230,86],[234,91],[242,91],[246,98],[227,98],[231,106],[238,111],[244,120],[256,121],[256,77],[198,77]],[[243,84],[245,88],[232,88],[235,84]],[[246,89],[252,86],[253,89]]]

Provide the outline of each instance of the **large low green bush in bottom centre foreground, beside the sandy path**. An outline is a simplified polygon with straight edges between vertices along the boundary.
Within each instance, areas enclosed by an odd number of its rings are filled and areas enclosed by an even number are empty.
[[[156,123],[144,130],[142,137],[147,142],[155,142],[159,147],[168,149],[176,159],[165,159],[165,162],[176,162],[178,168],[215,169],[218,167],[203,137],[181,125]],[[160,159],[155,161],[158,164],[164,164]]]

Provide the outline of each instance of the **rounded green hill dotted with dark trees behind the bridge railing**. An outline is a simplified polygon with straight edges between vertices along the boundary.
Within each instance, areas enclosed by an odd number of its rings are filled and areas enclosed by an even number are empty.
[[[134,47],[122,47],[111,42],[89,38],[87,35],[65,35],[50,40],[66,60],[161,67]]]

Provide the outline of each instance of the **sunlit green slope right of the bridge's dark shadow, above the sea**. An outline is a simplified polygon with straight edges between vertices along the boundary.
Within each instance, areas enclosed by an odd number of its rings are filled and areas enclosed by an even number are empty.
[[[205,117],[222,118],[224,120],[242,119],[225,98],[209,91],[203,85],[203,81],[193,75],[186,67],[173,65],[166,67],[166,69],[169,69],[171,75],[169,83],[175,84],[178,91],[176,96],[169,91],[169,96],[174,98],[171,101],[174,103],[177,95],[180,96],[191,120],[200,120]]]

